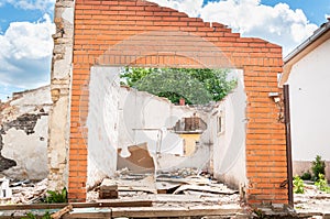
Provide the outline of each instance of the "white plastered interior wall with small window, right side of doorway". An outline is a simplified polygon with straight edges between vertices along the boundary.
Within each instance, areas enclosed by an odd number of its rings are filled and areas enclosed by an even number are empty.
[[[232,74],[238,78],[238,87],[215,109],[212,119],[213,127],[219,125],[218,118],[222,120],[221,132],[213,130],[213,169],[217,178],[239,188],[246,184],[246,95],[243,72]]]

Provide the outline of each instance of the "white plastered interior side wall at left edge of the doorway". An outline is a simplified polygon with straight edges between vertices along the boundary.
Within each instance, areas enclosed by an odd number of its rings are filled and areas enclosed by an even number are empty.
[[[113,175],[117,168],[119,68],[92,67],[89,83],[87,187]]]

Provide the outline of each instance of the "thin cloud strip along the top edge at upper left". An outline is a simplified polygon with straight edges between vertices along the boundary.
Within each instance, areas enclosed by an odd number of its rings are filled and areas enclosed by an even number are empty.
[[[6,3],[24,10],[53,11],[55,0],[0,0],[0,7]]]

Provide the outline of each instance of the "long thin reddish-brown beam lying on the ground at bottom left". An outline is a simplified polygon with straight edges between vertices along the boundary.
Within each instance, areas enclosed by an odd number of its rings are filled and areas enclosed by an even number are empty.
[[[152,201],[151,200],[114,200],[114,201],[102,201],[102,202],[0,205],[0,210],[62,209],[68,205],[72,205],[73,208],[151,207]]]

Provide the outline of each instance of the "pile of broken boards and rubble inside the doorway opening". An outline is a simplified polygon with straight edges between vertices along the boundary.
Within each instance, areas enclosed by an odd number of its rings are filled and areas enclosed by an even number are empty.
[[[117,185],[119,199],[147,199],[154,205],[217,205],[240,204],[238,190],[212,179],[211,175],[196,168],[182,168],[175,172],[134,174],[128,168],[118,171],[116,177],[105,179]],[[100,187],[87,195],[88,201],[98,201]]]

